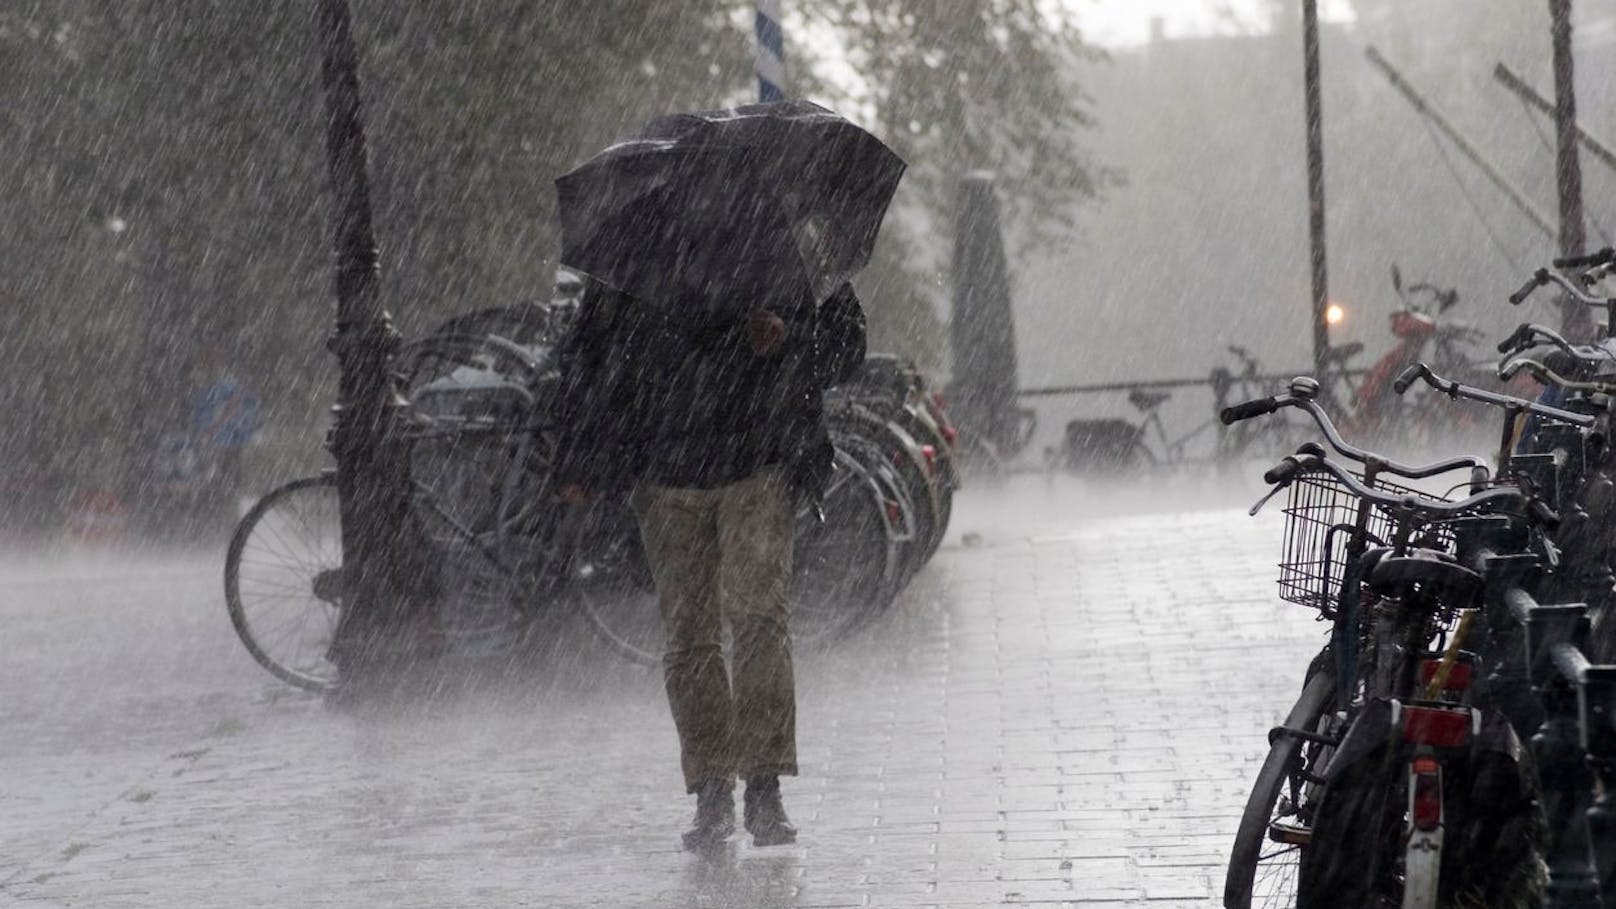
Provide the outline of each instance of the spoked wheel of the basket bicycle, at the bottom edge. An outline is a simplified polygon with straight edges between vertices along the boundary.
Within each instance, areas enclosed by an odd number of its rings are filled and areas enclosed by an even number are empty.
[[[1286,729],[1317,733],[1335,697],[1335,679],[1315,671],[1285,717]],[[1298,736],[1273,738],[1257,783],[1235,833],[1223,907],[1294,907],[1301,854],[1311,841],[1312,778],[1324,772],[1330,749]]]

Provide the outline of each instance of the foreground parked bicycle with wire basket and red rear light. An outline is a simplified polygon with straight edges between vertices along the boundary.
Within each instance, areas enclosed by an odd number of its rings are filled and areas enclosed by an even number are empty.
[[[1317,610],[1332,636],[1270,733],[1223,904],[1535,904],[1543,818],[1514,728],[1477,691],[1492,653],[1472,634],[1483,581],[1464,555],[1483,534],[1542,550],[1556,516],[1521,485],[1492,485],[1475,458],[1401,464],[1353,446],[1315,396],[1296,378],[1223,414],[1301,409],[1356,463],[1304,445],[1264,476],[1273,490],[1252,508],[1290,492],[1280,595]],[[1454,472],[1467,487],[1458,501],[1385,479]]]

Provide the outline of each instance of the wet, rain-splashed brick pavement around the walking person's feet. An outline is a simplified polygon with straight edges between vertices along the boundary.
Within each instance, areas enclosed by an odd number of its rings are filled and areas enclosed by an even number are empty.
[[[564,616],[335,710],[249,660],[221,555],[0,564],[0,904],[1215,906],[1322,626],[1272,595],[1277,514],[1133,506],[963,493],[894,610],[798,658],[800,843],[713,856],[659,676]]]

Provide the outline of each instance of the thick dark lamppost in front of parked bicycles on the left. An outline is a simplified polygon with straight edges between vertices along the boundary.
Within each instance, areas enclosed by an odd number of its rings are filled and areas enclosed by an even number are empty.
[[[409,477],[386,443],[399,404],[388,374],[398,333],[381,309],[347,2],[317,0],[317,24],[336,252],[336,333],[326,346],[341,367],[331,454],[346,584],[331,658],[346,687],[356,674],[419,655],[425,642],[419,623],[431,615],[431,603],[420,577],[402,576],[420,550],[409,548]]]

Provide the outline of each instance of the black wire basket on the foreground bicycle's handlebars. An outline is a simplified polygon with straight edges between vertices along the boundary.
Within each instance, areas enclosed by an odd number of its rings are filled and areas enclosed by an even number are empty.
[[[1441,498],[1383,480],[1375,480],[1375,490]],[[1348,547],[1357,532],[1361,501],[1330,474],[1302,474],[1291,480],[1285,503],[1285,547],[1280,555],[1281,600],[1325,613],[1335,610]],[[1396,519],[1383,508],[1372,506],[1364,524],[1367,543],[1390,545],[1395,531]],[[1427,548],[1453,552],[1453,527],[1430,524],[1420,531],[1417,542]]]

